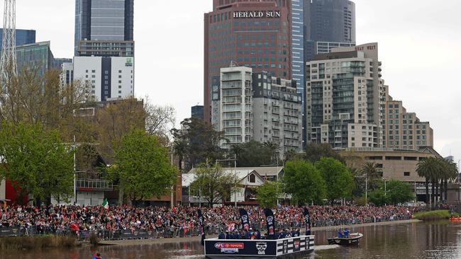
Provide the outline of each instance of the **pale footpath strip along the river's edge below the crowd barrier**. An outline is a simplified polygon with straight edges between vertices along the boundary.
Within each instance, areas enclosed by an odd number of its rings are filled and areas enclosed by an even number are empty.
[[[384,221],[377,223],[365,223],[365,224],[355,224],[346,226],[343,225],[343,228],[354,229],[363,226],[386,226],[394,224],[411,224],[421,222],[418,219],[409,219],[409,220],[399,220],[399,221]],[[318,226],[313,227],[312,231],[333,231],[341,226]],[[216,235],[207,236],[207,238],[217,237]],[[140,246],[140,245],[150,245],[150,244],[163,244],[163,243],[190,243],[200,241],[200,236],[184,237],[184,238],[156,238],[156,239],[130,239],[130,240],[109,240],[109,241],[100,241],[99,245],[101,246]]]

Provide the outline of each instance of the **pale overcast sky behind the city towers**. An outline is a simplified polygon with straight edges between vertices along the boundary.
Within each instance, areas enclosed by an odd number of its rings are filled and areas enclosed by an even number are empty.
[[[178,122],[203,104],[203,17],[211,2],[135,0],[135,95],[173,105]],[[355,4],[357,44],[379,42],[391,96],[431,122],[440,154],[461,159],[461,1]],[[74,0],[20,0],[16,23],[50,40],[55,57],[72,57]]]

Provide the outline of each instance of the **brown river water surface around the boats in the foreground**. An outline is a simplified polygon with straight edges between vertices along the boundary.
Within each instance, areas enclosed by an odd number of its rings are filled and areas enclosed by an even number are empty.
[[[316,251],[299,259],[318,258],[398,258],[433,259],[461,258],[461,224],[441,221],[437,223],[392,224],[365,226],[351,230],[364,234],[356,248],[328,246],[326,238],[334,231],[316,231]],[[99,247],[104,259],[203,259],[199,242],[152,244],[143,246]],[[2,259],[91,259],[88,248],[74,250],[0,251]]]

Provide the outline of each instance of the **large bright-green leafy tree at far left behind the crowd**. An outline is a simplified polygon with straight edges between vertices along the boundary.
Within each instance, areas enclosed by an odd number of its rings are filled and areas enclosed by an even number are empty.
[[[0,179],[8,178],[21,197],[33,195],[35,204],[50,197],[72,195],[73,150],[56,130],[40,125],[4,122],[0,130]]]

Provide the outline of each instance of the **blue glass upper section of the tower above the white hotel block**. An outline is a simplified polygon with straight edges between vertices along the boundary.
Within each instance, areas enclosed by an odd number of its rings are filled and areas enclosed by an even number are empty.
[[[75,55],[80,40],[133,41],[134,0],[76,0]]]

